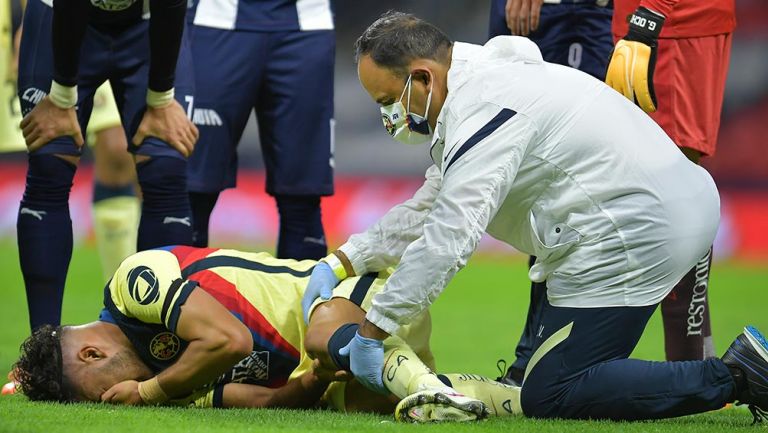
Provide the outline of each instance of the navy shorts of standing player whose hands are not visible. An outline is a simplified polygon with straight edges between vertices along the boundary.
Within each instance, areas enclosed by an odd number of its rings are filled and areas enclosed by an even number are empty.
[[[271,195],[333,194],[332,30],[240,32],[193,27],[200,139],[189,189],[235,186],[237,145],[256,111]]]

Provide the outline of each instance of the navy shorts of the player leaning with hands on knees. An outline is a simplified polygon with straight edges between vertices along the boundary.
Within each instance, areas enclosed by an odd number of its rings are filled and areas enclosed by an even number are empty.
[[[53,9],[35,0],[24,13],[24,32],[19,53],[18,92],[24,115],[49,92],[53,76],[51,20]],[[120,118],[131,142],[146,110],[149,81],[149,21],[141,20],[120,33],[105,33],[88,27],[80,51],[77,78],[77,117],[85,132],[93,109],[96,89],[109,80]],[[194,95],[192,59],[187,37],[182,39],[176,65],[176,99],[189,108]],[[141,146],[129,145],[129,150],[147,156],[183,156],[167,143],[149,137]],[[82,153],[72,137],[59,137],[35,153],[77,155]]]

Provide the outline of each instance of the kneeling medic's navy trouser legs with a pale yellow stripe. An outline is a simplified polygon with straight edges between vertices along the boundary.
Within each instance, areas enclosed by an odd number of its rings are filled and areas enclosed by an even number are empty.
[[[545,304],[522,391],[527,416],[640,420],[721,408],[734,379],[720,359],[627,359],[655,309]]]

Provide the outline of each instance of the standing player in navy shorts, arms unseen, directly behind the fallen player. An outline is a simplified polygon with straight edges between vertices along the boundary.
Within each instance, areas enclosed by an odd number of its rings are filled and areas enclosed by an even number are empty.
[[[319,259],[327,246],[320,197],[333,194],[330,0],[199,0],[194,23],[200,141],[189,161],[195,245],[221,191],[235,186],[237,145],[256,111],[267,193],[280,216],[277,257]],[[258,218],[258,215],[244,216]]]

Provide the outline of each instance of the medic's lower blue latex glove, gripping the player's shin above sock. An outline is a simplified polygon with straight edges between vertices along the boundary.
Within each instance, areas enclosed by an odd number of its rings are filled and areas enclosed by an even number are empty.
[[[339,349],[339,355],[349,357],[355,379],[379,394],[388,394],[381,380],[384,371],[384,342],[355,333],[349,344]]]

